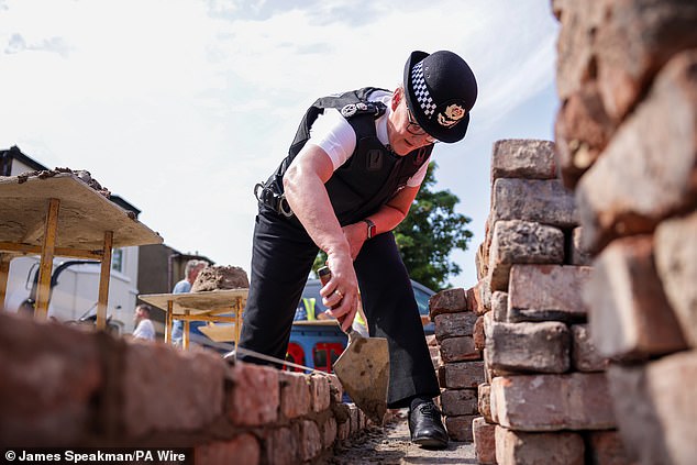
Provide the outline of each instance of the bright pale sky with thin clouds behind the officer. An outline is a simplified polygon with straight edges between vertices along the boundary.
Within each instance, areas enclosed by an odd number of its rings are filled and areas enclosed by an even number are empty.
[[[0,0],[0,150],[87,169],[165,244],[248,272],[253,187],[307,108],[450,49],[479,86],[467,136],[433,156],[472,219],[450,277],[468,288],[494,143],[553,140],[557,33],[549,0]]]

